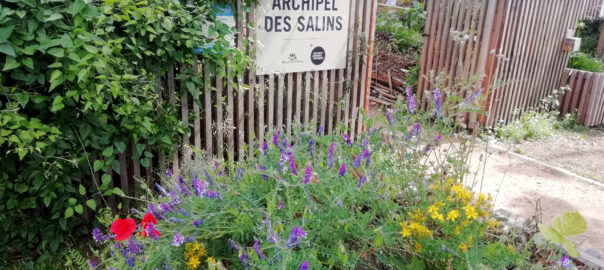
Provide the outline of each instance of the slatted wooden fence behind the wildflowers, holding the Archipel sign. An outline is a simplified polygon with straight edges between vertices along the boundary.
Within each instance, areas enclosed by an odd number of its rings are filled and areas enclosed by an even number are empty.
[[[237,2],[236,11],[240,11],[241,0]],[[141,148],[149,152],[151,148],[133,141],[106,168],[111,172],[119,164],[118,172],[112,175],[111,187],[118,186],[131,195],[136,179],[144,179],[151,185],[155,176],[163,175],[168,168],[178,173],[183,164],[194,158],[192,147],[204,151],[209,158],[242,161],[253,157],[259,142],[277,129],[291,133],[297,126],[312,126],[314,132],[322,129],[324,133],[332,133],[340,126],[354,139],[363,128],[359,109],[368,108],[377,0],[350,0],[350,3],[347,65],[343,69],[256,76],[252,68],[231,80],[226,79],[232,72],[228,63],[223,72],[218,72],[204,64],[203,59],[196,59],[193,67],[173,67],[160,76],[157,83],[160,102],[168,101],[179,108],[181,121],[190,132],[181,138],[178,151],[153,153],[153,157],[147,158],[146,167],[141,167],[133,156]],[[255,39],[254,12],[252,8],[236,14],[237,47],[252,58],[253,42],[244,47],[243,41]],[[197,91],[202,94],[191,95],[179,83],[178,74],[186,68],[192,68],[195,76],[205,81],[204,89]],[[244,86],[249,88],[242,91]],[[96,158],[101,159],[92,157],[91,166]],[[93,177],[95,181],[101,179],[98,173]],[[107,201],[115,210],[115,198],[110,196]],[[122,202],[129,209],[128,200]]]

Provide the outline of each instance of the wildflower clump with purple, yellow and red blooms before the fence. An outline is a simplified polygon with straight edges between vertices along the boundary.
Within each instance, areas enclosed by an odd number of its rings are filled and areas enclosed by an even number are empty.
[[[435,111],[443,104],[450,103],[437,98]],[[488,196],[462,185],[472,138],[457,134],[459,145],[437,154],[456,124],[411,113],[414,99],[408,105],[355,142],[277,131],[233,169],[196,161],[183,175],[168,172],[146,213],[104,220],[117,235],[93,232],[103,243],[93,261],[119,269],[514,265],[515,251],[486,233],[497,227]],[[126,240],[116,244],[114,236]]]

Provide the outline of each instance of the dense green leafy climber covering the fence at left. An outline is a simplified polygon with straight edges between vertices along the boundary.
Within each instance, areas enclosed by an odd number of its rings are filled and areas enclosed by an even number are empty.
[[[230,55],[234,73],[248,64],[224,39],[228,27],[213,23],[215,4],[2,1],[0,263],[86,233],[78,216],[100,207],[94,197],[122,193],[109,185],[120,172],[115,156],[131,141],[137,158],[151,155],[145,145],[174,148],[188,125],[159,103],[158,74],[182,65],[180,82],[202,85],[191,76],[192,51],[209,42],[204,61],[224,65]],[[83,182],[92,172],[102,179]]]

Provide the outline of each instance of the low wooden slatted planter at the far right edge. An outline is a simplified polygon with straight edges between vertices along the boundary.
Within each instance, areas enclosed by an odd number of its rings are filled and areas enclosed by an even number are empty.
[[[604,124],[604,73],[567,69],[562,82],[571,91],[560,98],[560,113],[576,113],[586,126]]]

